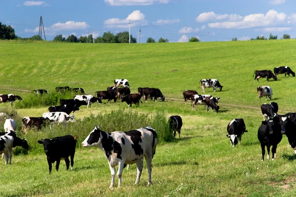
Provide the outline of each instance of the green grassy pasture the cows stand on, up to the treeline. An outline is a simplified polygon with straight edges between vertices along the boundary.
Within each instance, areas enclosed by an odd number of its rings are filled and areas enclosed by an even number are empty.
[[[254,83],[252,77],[256,69],[273,70],[276,66],[290,66],[295,71],[295,45],[296,40],[134,45],[0,42],[0,94],[13,93],[26,99],[30,93],[25,90],[44,88],[51,92],[56,86],[81,87],[87,94],[94,94],[111,86],[115,78],[126,78],[133,93],[138,87],[155,87],[167,100],[140,103],[140,107],[130,110],[144,115],[164,110],[167,117],[178,114],[184,122],[181,139],[157,146],[150,187],[146,186],[147,170],[143,171],[140,185],[133,185],[136,166],[132,165],[124,169],[123,186],[109,190],[110,169],[97,148],[78,146],[74,171],[66,171],[61,162],[59,172],[49,175],[40,147],[28,155],[13,156],[12,165],[4,166],[0,161],[0,169],[5,172],[0,173],[0,196],[295,195],[296,161],[285,136],[276,160],[265,156],[265,161],[260,162],[259,106],[265,100],[259,101],[256,88],[269,85],[279,113],[294,112],[296,78],[279,75],[278,81],[259,79]],[[207,113],[203,106],[192,111],[190,104],[182,100],[183,90],[201,94],[199,81],[204,78],[217,78],[224,86],[222,92],[206,89],[206,94],[221,98],[220,113]],[[88,109],[82,106],[75,112],[76,119],[127,108],[126,103],[103,102]],[[0,110],[8,105],[1,103]],[[47,108],[17,109],[17,113],[20,117],[41,116]],[[231,148],[226,127],[237,117],[245,120],[249,132],[242,136],[240,145]],[[90,132],[93,126],[84,129]],[[38,133],[42,135],[47,133]],[[79,136],[80,140],[85,137]],[[37,142],[32,146],[37,147]]]

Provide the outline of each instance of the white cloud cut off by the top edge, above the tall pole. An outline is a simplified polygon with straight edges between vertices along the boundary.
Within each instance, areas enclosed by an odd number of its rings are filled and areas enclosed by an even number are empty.
[[[154,3],[168,3],[170,0],[105,0],[110,5],[152,5]]]

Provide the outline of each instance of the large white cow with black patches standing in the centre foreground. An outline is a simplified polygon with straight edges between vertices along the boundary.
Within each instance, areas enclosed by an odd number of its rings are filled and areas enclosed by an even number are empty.
[[[156,144],[157,134],[151,127],[109,133],[101,131],[98,126],[95,126],[82,142],[83,147],[98,146],[104,151],[111,170],[110,188],[114,187],[116,165],[118,165],[118,187],[121,186],[122,170],[126,164],[136,163],[137,179],[135,184],[139,184],[144,157],[148,169],[148,185],[151,184],[151,161],[155,154]]]

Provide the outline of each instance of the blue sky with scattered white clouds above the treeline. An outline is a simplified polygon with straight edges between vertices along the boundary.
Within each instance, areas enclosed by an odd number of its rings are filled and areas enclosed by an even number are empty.
[[[169,42],[248,40],[269,34],[296,38],[296,0],[2,0],[0,21],[16,35],[38,34],[42,16],[47,40],[62,34],[128,31],[140,42],[160,37]],[[43,34],[42,34],[42,37]]]

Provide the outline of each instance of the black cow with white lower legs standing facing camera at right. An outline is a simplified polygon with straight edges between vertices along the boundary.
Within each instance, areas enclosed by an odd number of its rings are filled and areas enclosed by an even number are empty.
[[[272,146],[272,160],[276,158],[276,147],[282,140],[283,134],[281,133],[281,125],[279,117],[271,118],[267,121],[262,121],[258,129],[258,139],[261,144],[262,158],[264,161],[265,146],[267,148],[267,159],[269,159],[270,146]]]

